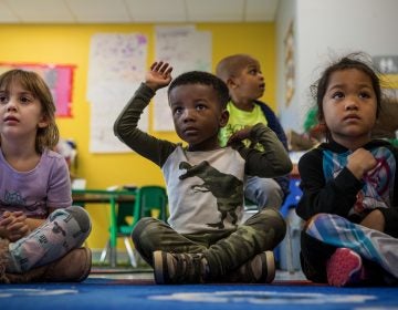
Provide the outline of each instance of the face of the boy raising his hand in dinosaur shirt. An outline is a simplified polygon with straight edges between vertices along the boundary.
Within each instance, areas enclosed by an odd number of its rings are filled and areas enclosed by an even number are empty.
[[[219,147],[218,132],[228,122],[228,112],[221,108],[217,92],[202,84],[179,85],[169,93],[172,121],[178,136],[190,151]]]

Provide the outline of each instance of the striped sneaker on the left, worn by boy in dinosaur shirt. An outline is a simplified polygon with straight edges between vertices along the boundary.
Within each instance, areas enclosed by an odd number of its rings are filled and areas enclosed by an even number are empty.
[[[157,285],[205,282],[207,260],[201,254],[154,252],[154,275]]]

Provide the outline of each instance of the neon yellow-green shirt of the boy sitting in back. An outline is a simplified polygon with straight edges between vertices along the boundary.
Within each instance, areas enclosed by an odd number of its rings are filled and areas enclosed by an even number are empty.
[[[258,123],[268,125],[264,113],[262,112],[260,105],[254,104],[254,108],[251,112],[243,111],[238,108],[231,101],[227,105],[227,110],[230,113],[230,117],[227,126],[222,127],[219,133],[219,141],[221,146],[226,146],[229,137],[247,127],[254,126]],[[249,141],[244,141],[245,145],[249,145]]]

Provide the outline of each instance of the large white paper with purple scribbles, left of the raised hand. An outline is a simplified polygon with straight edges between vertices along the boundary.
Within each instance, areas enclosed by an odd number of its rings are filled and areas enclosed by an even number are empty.
[[[147,38],[140,33],[97,33],[92,37],[87,75],[92,153],[132,152],[114,135],[113,125],[143,81],[146,61]],[[147,110],[138,123],[143,131],[148,131]]]

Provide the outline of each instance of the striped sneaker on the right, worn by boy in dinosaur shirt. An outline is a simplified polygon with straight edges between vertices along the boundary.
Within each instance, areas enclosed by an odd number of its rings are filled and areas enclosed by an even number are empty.
[[[275,258],[272,251],[254,256],[238,269],[229,272],[227,280],[242,283],[271,283],[275,279]]]

